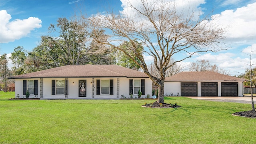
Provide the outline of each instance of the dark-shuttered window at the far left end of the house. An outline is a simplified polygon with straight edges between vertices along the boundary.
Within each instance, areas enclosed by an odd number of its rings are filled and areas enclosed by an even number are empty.
[[[23,95],[26,92],[32,95],[38,95],[38,80],[23,80]]]

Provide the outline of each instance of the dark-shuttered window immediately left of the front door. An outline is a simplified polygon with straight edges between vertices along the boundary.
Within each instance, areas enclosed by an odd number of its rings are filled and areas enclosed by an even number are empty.
[[[52,80],[52,95],[68,95],[68,80]]]

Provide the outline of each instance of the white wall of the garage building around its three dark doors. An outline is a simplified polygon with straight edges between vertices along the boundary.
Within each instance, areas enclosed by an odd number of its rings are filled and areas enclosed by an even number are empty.
[[[212,81],[208,81],[208,82],[212,82]],[[218,82],[218,96],[221,96],[222,82]],[[225,82],[237,82],[237,81],[225,81]],[[181,82],[164,82],[164,94],[171,95],[171,92],[173,93],[173,96],[177,95],[177,93],[181,94],[180,83]],[[237,83],[238,83],[238,96],[243,96],[243,84],[242,82],[237,82]],[[197,94],[198,96],[201,96],[201,82],[197,82]]]

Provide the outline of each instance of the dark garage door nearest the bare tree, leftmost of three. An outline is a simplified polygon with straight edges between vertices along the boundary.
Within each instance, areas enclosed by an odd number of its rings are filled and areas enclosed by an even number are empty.
[[[180,83],[181,96],[197,96],[197,82]]]

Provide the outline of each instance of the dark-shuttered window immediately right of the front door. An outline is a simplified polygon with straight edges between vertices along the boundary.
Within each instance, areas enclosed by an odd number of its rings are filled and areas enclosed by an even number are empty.
[[[97,95],[113,95],[113,80],[97,80]]]

